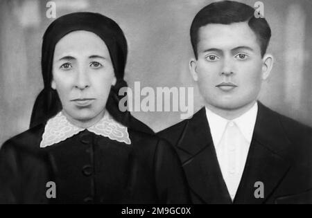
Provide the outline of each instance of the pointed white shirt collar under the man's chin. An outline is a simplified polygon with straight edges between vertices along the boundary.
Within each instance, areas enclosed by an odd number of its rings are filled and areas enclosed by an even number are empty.
[[[239,127],[239,130],[241,131],[241,134],[243,134],[244,138],[248,140],[249,143],[251,143],[252,134],[254,132],[254,125],[256,124],[257,113],[257,102],[248,111],[243,113],[238,118],[235,118],[234,120],[227,120],[221,116],[218,116],[218,114],[212,112],[206,107],[206,116],[209,122],[214,145],[217,146],[218,143],[220,143],[223,132],[225,131],[225,127],[227,127],[227,123],[230,121],[236,123],[236,125]]]

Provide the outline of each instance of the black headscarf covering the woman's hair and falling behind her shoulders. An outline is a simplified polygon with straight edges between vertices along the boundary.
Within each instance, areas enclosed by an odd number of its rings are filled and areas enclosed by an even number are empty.
[[[62,105],[58,93],[51,88],[52,64],[55,45],[58,41],[76,30],[86,30],[98,35],[105,42],[116,76],[116,84],[112,86],[107,99],[106,109],[112,117],[128,128],[153,133],[153,131],[139,120],[133,118],[129,111],[119,110],[119,89],[127,87],[123,80],[125,63],[127,61],[128,46],[123,31],[112,19],[94,12],[75,12],[64,15],[50,24],[44,33],[42,42],[42,77],[44,89],[37,96],[33,112],[31,114],[31,127],[41,124],[55,116]]]

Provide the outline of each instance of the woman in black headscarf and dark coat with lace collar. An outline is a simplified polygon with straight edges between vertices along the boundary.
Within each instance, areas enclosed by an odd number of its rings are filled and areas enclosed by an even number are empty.
[[[126,57],[112,19],[76,12],[53,21],[31,129],[0,151],[0,203],[189,202],[171,146],[119,111]]]

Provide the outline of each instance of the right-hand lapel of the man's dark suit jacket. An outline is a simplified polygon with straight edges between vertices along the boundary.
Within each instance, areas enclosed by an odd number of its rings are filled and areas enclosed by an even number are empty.
[[[234,203],[265,203],[291,167],[286,157],[291,143],[278,116],[260,102],[258,106],[252,143]],[[255,187],[257,181],[263,183],[263,198],[254,196],[259,188]]]

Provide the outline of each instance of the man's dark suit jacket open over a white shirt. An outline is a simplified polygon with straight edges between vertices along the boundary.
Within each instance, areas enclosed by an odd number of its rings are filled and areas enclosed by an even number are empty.
[[[312,203],[312,130],[260,102],[241,183],[233,203]],[[193,203],[232,203],[205,107],[157,133],[177,150]],[[263,183],[263,198],[254,197]]]

